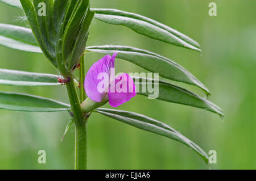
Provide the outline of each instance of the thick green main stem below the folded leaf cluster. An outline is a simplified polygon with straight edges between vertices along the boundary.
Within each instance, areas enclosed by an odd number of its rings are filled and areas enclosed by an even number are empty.
[[[77,95],[73,74],[69,73],[70,81],[66,84],[68,90],[69,102],[73,111],[73,120],[76,125],[76,142],[75,142],[75,169],[86,169],[86,122],[87,120],[82,113],[79,97]]]

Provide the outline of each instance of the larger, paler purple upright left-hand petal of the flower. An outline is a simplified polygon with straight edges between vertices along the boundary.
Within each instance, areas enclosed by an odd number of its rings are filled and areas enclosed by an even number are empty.
[[[100,82],[105,82],[106,86],[109,86],[109,75],[110,75],[110,62],[112,58],[110,55],[106,55],[105,57],[101,58],[101,60],[95,62],[88,73],[86,74],[84,87],[86,95],[89,96],[90,99],[94,100],[95,102],[101,102],[102,98],[106,95],[106,92],[102,92],[98,90],[98,85]],[[113,63],[112,63],[113,64]],[[104,73],[108,76],[108,79],[104,77],[98,77],[100,73]],[[100,74],[100,75],[104,75]],[[101,78],[101,79],[98,79]],[[108,90],[108,87],[102,86],[102,89]]]

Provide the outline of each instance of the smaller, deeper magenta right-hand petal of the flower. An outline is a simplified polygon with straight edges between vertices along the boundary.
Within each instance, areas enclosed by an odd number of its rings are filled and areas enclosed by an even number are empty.
[[[111,86],[115,86],[115,89],[113,89],[114,91],[111,91],[109,87],[108,92],[109,104],[112,107],[120,106],[137,94],[133,78],[126,73],[118,75],[115,78],[115,81],[111,83]]]

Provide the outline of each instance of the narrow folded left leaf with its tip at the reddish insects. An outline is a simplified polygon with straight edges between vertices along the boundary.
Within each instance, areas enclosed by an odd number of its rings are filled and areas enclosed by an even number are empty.
[[[58,75],[0,69],[0,85],[9,86],[57,86]]]

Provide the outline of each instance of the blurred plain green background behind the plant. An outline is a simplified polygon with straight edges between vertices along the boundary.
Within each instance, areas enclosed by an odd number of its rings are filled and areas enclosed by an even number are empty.
[[[217,3],[217,16],[208,15],[209,2]],[[212,169],[256,169],[256,1],[92,0],[91,7],[135,12],[197,40],[201,54],[95,19],[88,45],[129,45],[176,61],[210,89],[209,99],[224,110],[225,118],[141,95],[119,109],[163,121],[205,151],[216,150],[217,164]],[[1,23],[26,26],[19,16],[21,11],[0,4]],[[0,54],[0,68],[57,74],[42,54],[5,47],[0,47]],[[101,57],[86,54],[86,69]],[[117,60],[116,67],[116,72],[143,71],[123,60]],[[196,87],[177,84],[204,96]],[[0,89],[68,103],[64,86]],[[0,110],[0,169],[73,169],[74,129],[60,141],[69,119],[68,113]],[[102,115],[94,113],[88,129],[88,169],[208,169],[187,146]],[[46,164],[38,163],[41,149],[46,150]]]

